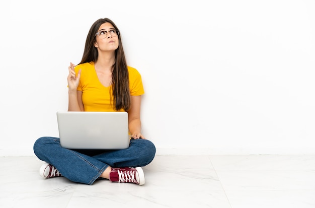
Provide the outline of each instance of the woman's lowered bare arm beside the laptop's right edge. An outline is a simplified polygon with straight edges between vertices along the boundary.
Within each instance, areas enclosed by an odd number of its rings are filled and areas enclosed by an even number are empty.
[[[145,138],[141,134],[140,120],[141,96],[131,96],[131,107],[128,111],[129,131],[134,139]]]

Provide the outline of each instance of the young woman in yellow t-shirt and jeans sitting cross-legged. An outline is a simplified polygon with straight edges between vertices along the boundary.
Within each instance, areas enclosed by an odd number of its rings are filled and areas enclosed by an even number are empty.
[[[68,111],[126,111],[130,145],[124,150],[69,150],[56,137],[40,137],[34,153],[46,163],[44,178],[64,176],[92,185],[97,179],[144,184],[142,166],[155,156],[155,147],[141,134],[141,76],[127,66],[120,32],[108,18],[97,20],[87,36],[78,65],[68,67]]]

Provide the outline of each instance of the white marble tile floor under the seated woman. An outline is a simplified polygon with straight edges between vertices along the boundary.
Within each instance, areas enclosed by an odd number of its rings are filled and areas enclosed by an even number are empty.
[[[43,179],[35,156],[0,157],[0,207],[315,207],[315,155],[162,156],[145,184]]]

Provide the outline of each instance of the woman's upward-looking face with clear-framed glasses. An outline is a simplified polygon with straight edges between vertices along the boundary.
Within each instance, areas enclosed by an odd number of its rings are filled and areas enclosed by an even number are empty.
[[[99,52],[115,51],[119,46],[118,31],[115,30],[112,24],[103,23],[96,35],[94,46]]]

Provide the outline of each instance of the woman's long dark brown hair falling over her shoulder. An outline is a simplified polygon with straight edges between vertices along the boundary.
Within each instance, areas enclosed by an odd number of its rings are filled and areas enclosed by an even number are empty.
[[[110,23],[116,30],[119,30],[115,23],[108,18],[103,18],[95,21],[88,33],[82,60],[78,64],[97,61],[99,53],[97,48],[94,46],[96,42],[96,33],[98,32],[98,29],[101,27],[101,25],[104,23]],[[111,102],[113,101],[115,110],[124,109],[124,111],[128,111],[131,105],[129,74],[124,49],[122,47],[120,32],[118,35],[118,40],[119,45],[118,48],[115,50],[115,63],[112,66],[113,72]]]

